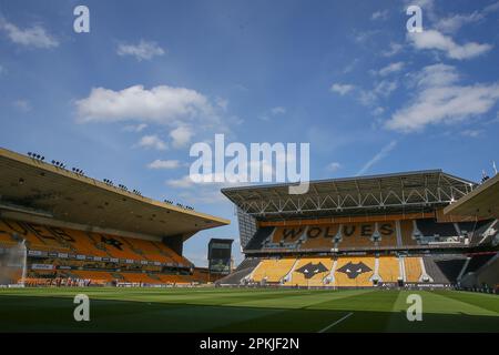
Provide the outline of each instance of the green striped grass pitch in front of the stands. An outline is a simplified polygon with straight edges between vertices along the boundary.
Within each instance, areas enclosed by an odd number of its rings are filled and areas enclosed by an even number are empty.
[[[79,293],[90,297],[90,322],[73,318]],[[411,293],[422,298],[421,322],[407,321]],[[395,290],[0,290],[0,332],[320,331],[499,332],[499,296]]]

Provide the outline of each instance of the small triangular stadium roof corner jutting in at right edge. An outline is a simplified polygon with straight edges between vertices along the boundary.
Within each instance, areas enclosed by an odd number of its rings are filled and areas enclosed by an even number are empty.
[[[445,214],[499,219],[499,174],[487,180],[469,194],[451,203]]]

